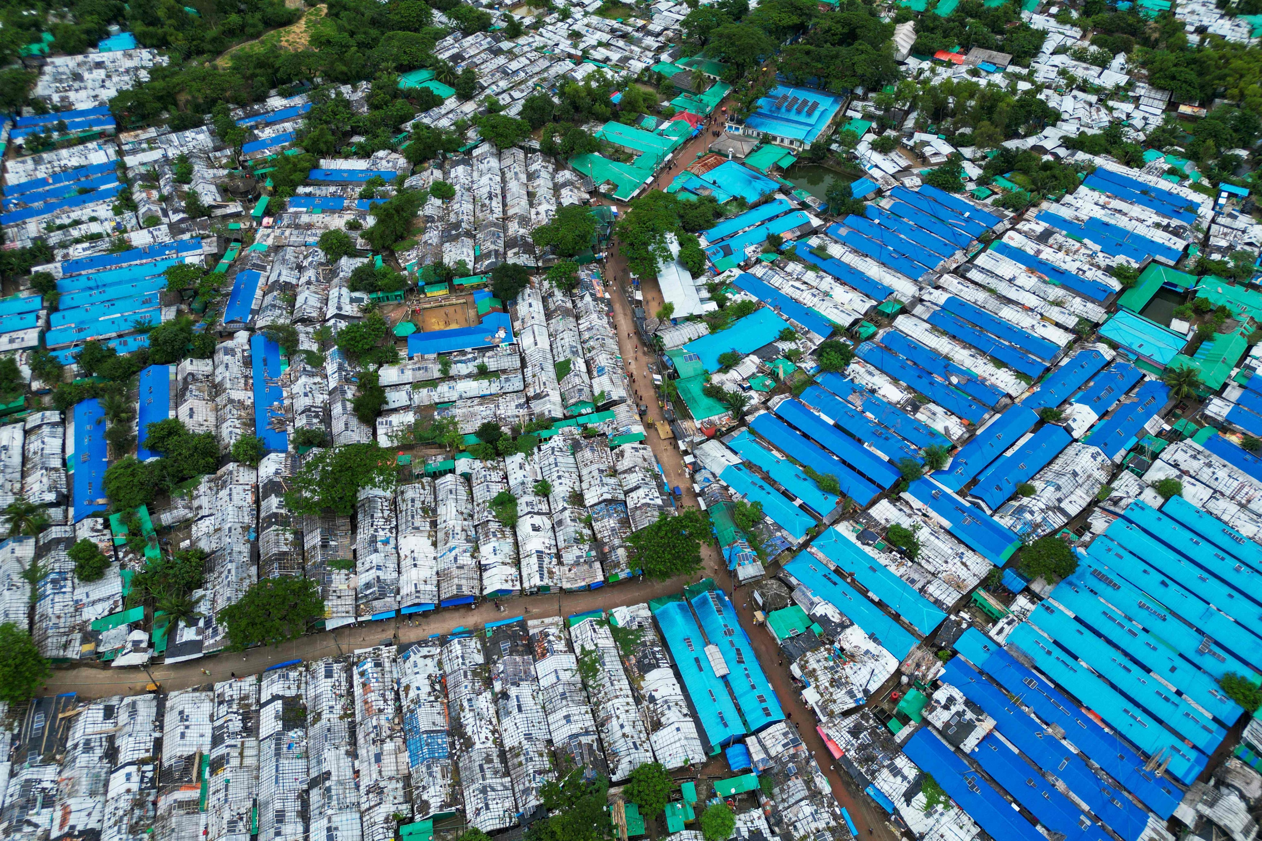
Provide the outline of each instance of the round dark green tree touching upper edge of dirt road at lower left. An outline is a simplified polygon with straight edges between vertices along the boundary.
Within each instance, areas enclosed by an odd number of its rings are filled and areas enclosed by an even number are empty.
[[[240,601],[220,610],[218,619],[227,628],[228,651],[245,651],[297,639],[323,615],[319,584],[283,575],[257,581]]]

